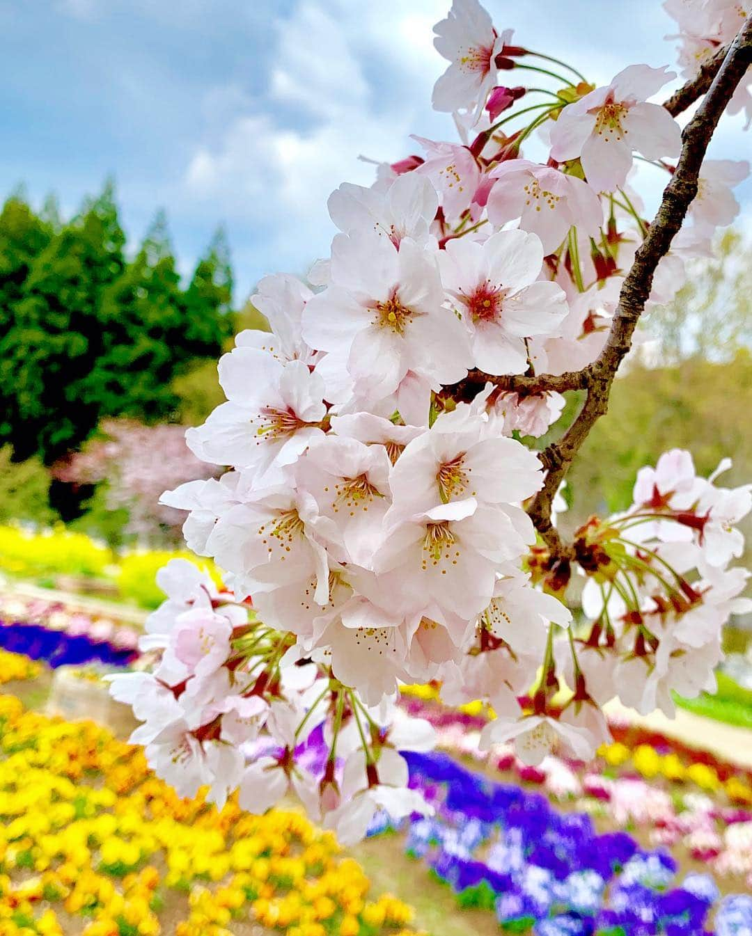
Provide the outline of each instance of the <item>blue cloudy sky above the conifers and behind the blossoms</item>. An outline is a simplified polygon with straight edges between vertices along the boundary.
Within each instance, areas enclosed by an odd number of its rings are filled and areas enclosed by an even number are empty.
[[[129,238],[158,207],[184,270],[219,222],[238,300],[266,272],[326,253],[326,197],[368,184],[359,154],[394,160],[408,134],[453,139],[430,109],[444,63],[431,28],[450,0],[0,0],[0,191],[26,183],[73,212],[114,175]],[[597,83],[634,62],[671,64],[657,2],[486,4],[498,29],[567,58]],[[711,154],[744,158],[741,117]],[[657,171],[646,168],[655,199]],[[651,175],[651,173],[653,173]],[[739,190],[745,222],[752,184]]]

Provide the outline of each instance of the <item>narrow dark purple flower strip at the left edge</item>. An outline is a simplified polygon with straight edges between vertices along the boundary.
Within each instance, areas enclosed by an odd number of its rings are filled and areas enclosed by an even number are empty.
[[[114,647],[107,640],[86,635],[69,635],[39,624],[0,622],[0,648],[42,660],[52,668],[64,665],[98,663],[127,666],[137,654],[129,648]]]

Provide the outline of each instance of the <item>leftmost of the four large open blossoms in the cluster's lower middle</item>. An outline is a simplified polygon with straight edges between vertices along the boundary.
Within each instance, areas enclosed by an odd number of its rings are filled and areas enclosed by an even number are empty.
[[[310,494],[289,487],[259,490],[244,504],[220,517],[207,549],[222,568],[236,577],[236,593],[269,592],[316,580],[314,599],[329,596],[329,564],[317,538],[335,534],[332,521],[321,517]]]

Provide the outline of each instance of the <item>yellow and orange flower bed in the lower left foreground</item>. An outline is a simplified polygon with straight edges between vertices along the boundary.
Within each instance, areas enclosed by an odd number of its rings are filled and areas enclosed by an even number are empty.
[[[179,799],[139,748],[0,695],[0,936],[415,936],[369,887],[302,814]]]

